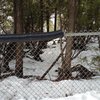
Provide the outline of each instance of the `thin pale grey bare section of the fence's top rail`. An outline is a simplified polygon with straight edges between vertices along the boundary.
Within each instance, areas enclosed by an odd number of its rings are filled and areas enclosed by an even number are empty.
[[[100,32],[85,32],[85,33],[64,33],[65,37],[71,36],[100,36]]]

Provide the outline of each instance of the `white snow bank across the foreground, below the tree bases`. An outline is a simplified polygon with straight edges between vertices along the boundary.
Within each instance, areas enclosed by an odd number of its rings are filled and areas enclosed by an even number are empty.
[[[37,81],[34,79],[9,77],[0,82],[0,100],[41,100],[44,98],[53,98],[54,100],[54,98],[65,98],[67,96],[72,96],[77,93],[85,93],[87,91],[96,91],[100,95],[100,78],[92,80],[65,80],[51,82],[48,80]],[[79,96],[81,99],[76,100],[100,100],[100,97],[99,99],[87,99],[89,97],[92,98],[92,96],[97,98],[98,95],[95,95],[96,92],[88,93],[89,95],[82,94],[82,97]],[[76,95],[75,98],[78,98],[78,95]],[[66,100],[71,99],[66,98]]]

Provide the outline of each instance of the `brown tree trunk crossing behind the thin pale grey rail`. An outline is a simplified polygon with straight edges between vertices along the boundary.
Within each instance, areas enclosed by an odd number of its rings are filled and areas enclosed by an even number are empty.
[[[75,8],[76,8],[76,1],[75,0],[68,0],[68,14],[69,14],[69,33],[73,33],[75,30]],[[73,37],[67,37],[66,39],[66,51],[65,51],[65,60],[62,65],[63,70],[63,79],[71,78],[71,56],[72,56],[72,47],[73,47]]]

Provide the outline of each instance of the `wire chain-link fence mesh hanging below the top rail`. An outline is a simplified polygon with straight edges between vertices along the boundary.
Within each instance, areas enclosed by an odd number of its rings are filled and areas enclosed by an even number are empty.
[[[7,37],[6,42],[0,38],[3,100],[41,100],[100,90],[99,32],[66,33],[62,39],[45,41],[32,41],[30,36],[27,41],[13,37],[10,42]]]

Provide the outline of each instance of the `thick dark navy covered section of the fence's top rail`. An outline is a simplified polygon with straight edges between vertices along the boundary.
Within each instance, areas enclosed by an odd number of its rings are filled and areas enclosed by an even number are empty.
[[[5,34],[0,35],[0,42],[25,42],[25,41],[46,41],[64,36],[61,30],[54,32],[34,32],[30,34]]]

